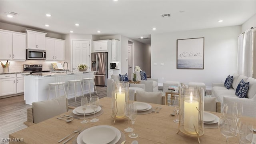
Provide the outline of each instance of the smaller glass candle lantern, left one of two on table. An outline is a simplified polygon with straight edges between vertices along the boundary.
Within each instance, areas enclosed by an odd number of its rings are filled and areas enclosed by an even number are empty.
[[[112,118],[114,118],[114,124],[116,120],[126,118],[124,114],[124,106],[126,102],[129,102],[128,92],[128,82],[120,81],[118,83],[112,83]]]

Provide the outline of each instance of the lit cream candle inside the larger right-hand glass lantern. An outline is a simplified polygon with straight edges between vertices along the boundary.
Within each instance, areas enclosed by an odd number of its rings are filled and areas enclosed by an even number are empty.
[[[190,134],[198,132],[198,104],[198,101],[193,100],[192,92],[190,99],[184,102],[184,129]]]

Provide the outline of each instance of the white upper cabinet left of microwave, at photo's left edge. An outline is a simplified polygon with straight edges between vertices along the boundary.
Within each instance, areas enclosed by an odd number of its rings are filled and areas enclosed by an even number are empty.
[[[26,34],[0,30],[0,59],[26,60]]]

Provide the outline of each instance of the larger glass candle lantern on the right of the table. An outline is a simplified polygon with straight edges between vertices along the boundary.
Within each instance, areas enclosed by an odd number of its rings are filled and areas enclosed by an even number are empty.
[[[180,86],[180,122],[178,132],[187,136],[204,135],[204,89]],[[177,134],[178,134],[177,132]]]

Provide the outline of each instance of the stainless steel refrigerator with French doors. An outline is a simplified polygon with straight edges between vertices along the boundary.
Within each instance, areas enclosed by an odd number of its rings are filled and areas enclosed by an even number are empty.
[[[106,86],[108,78],[108,53],[92,53],[92,71],[96,71],[95,85]]]

